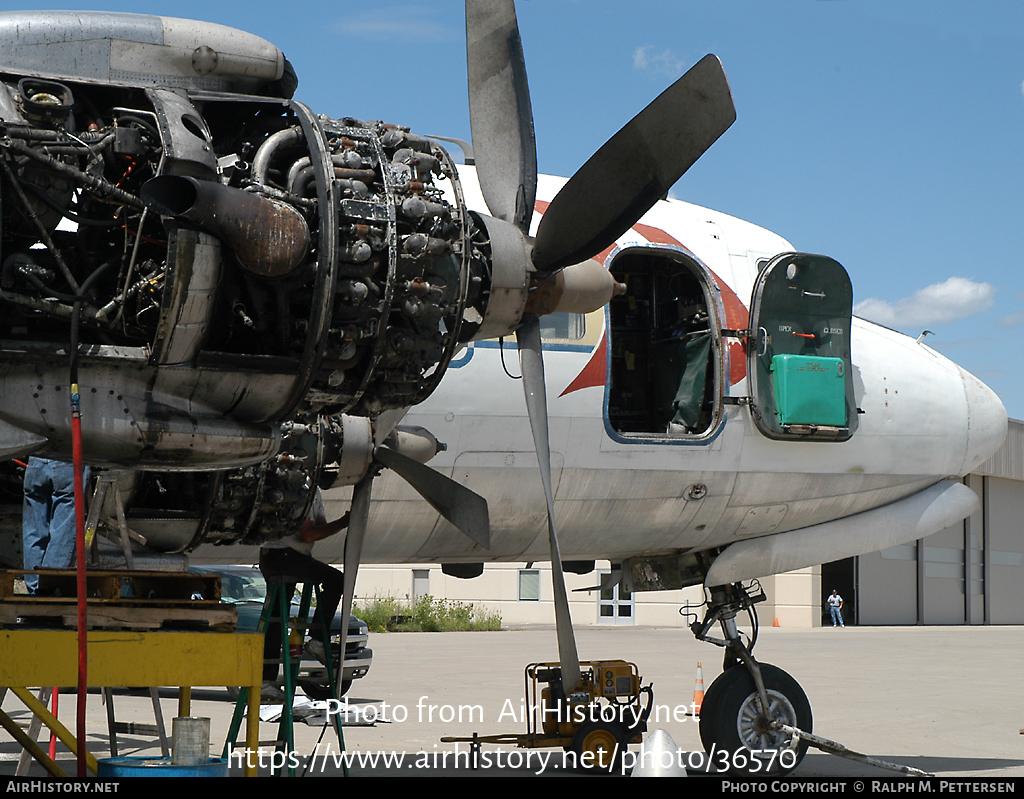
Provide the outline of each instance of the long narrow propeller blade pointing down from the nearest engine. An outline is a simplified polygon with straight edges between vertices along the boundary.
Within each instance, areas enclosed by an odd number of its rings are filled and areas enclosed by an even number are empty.
[[[551,445],[548,440],[548,397],[544,385],[544,355],[541,350],[541,321],[527,317],[516,330],[522,387],[526,392],[526,411],[534,430],[537,460],[541,466],[541,481],[548,502],[548,545],[551,547],[551,580],[555,595],[555,628],[558,633],[558,660],[562,668],[562,685],[566,695],[580,684],[580,656],[577,654],[569,600],[562,574],[562,557],[555,531],[555,501],[551,490]]]

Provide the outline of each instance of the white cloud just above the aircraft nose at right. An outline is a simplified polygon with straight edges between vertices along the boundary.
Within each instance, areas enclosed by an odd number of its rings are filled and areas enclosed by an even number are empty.
[[[896,302],[870,297],[858,302],[853,310],[858,317],[890,328],[916,328],[973,317],[992,307],[994,296],[991,284],[950,278]]]

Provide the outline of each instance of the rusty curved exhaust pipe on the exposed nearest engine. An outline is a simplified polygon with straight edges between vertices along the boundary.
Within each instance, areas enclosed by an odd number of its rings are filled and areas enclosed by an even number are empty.
[[[157,213],[184,219],[216,236],[257,277],[290,275],[309,250],[306,220],[286,203],[181,175],[155,177],[140,194]]]

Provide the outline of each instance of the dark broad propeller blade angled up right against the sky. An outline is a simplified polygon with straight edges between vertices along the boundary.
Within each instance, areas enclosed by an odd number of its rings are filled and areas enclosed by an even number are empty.
[[[722,62],[706,55],[562,186],[541,219],[534,265],[552,271],[613,244],[735,119]]]

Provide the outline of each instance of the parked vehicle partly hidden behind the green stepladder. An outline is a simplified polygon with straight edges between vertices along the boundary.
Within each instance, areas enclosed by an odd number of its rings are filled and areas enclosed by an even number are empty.
[[[266,598],[266,581],[256,566],[239,565],[194,565],[190,572],[200,574],[220,575],[220,598],[223,602],[230,602],[239,612],[239,632],[256,632],[259,627],[259,617],[263,609],[263,600]],[[299,592],[296,591],[292,598],[292,615],[298,614]],[[341,646],[341,613],[336,613],[331,622],[331,656],[334,663],[338,662],[338,655]],[[338,696],[342,696],[352,686],[352,680],[365,677],[370,671],[373,663],[374,651],[367,646],[370,628],[366,622],[356,619],[354,616],[348,617],[348,637],[345,641],[345,669],[342,675],[341,684],[338,686]],[[308,641],[308,636],[306,637]],[[283,670],[279,666],[278,678],[274,684],[281,686],[284,681]],[[331,681],[328,677],[327,667],[317,660],[306,655],[303,649],[302,660],[299,662],[299,672],[296,676],[296,684],[302,688],[311,700],[326,700],[331,698]],[[238,697],[238,688],[227,688],[232,698]]]

